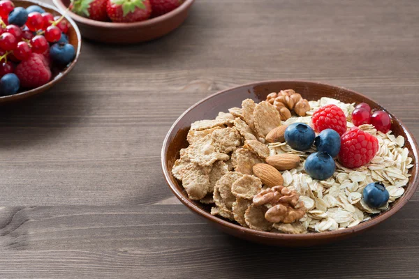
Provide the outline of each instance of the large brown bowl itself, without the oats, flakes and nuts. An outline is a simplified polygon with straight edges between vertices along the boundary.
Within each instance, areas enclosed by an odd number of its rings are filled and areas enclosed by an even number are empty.
[[[194,202],[188,198],[185,190],[182,188],[182,183],[177,181],[177,179],[172,176],[170,170],[172,169],[175,160],[179,158],[179,150],[188,146],[186,135],[191,127],[191,123],[202,119],[214,119],[219,112],[227,112],[230,107],[241,107],[242,100],[246,98],[251,98],[255,100],[255,102],[260,102],[261,100],[265,100],[268,93],[278,92],[284,89],[294,89],[308,100],[318,100],[321,97],[330,97],[339,99],[345,103],[365,102],[369,104],[372,109],[385,110],[381,107],[381,105],[374,102],[374,100],[371,100],[360,93],[317,82],[272,80],[245,84],[237,86],[233,89],[215,93],[214,95],[201,100],[199,103],[196,103],[190,107],[189,110],[186,110],[184,114],[179,116],[172,128],[170,128],[166,139],[163,142],[163,148],[161,150],[163,173],[170,189],[173,193],[175,193],[176,197],[193,212],[203,216],[209,220],[210,223],[213,223],[224,232],[240,237],[241,239],[247,239],[249,241],[274,246],[312,246],[346,239],[349,236],[354,236],[355,234],[364,232],[366,229],[383,222],[385,219],[399,211],[399,209],[401,209],[402,206],[404,206],[404,204],[406,204],[406,202],[412,197],[418,187],[418,145],[416,144],[413,135],[403,125],[403,123],[388,111],[387,112],[394,121],[392,124],[393,133],[395,135],[402,135],[406,138],[406,147],[409,149],[409,156],[413,158],[414,167],[411,169],[411,178],[408,186],[405,188],[406,192],[404,195],[397,199],[396,202],[392,203],[388,211],[375,216],[372,220],[361,223],[355,227],[341,229],[334,232],[309,234],[259,232],[254,229],[241,227],[240,225],[231,223],[228,220],[212,216],[210,214],[209,207],[200,204],[199,202]]]

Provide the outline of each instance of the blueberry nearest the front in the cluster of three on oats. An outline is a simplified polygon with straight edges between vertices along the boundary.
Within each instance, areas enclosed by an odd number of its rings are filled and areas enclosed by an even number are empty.
[[[312,153],[305,161],[304,169],[312,178],[326,180],[335,173],[335,160],[325,152]]]

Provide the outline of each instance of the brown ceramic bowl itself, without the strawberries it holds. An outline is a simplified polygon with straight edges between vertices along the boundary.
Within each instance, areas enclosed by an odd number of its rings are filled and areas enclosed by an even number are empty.
[[[53,0],[60,10],[66,10],[70,0]],[[102,43],[128,44],[141,43],[154,40],[166,35],[179,27],[188,16],[189,8],[193,1],[186,0],[181,6],[170,13],[154,17],[143,22],[118,23],[99,22],[76,15],[68,11],[68,15],[77,22],[82,31],[82,36]]]

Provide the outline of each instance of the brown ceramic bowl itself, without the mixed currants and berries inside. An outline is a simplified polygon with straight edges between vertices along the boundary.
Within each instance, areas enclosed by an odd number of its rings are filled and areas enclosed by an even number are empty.
[[[31,5],[38,5],[41,6],[45,11],[48,13],[52,13],[52,15],[61,15],[61,13],[58,12],[58,10],[50,5],[47,5],[42,2],[38,1],[29,1],[29,0],[13,0],[13,3],[15,3],[16,7],[24,7],[27,8]],[[80,48],[82,46],[82,37],[80,36],[80,31],[71,20],[71,18],[66,17],[66,20],[70,23],[70,28],[68,29],[68,42],[73,45],[75,48],[75,59],[73,62],[71,62],[70,65],[68,65],[64,69],[53,69],[52,70],[52,79],[47,84],[44,84],[43,86],[37,87],[36,89],[31,89],[29,91],[19,91],[19,93],[9,96],[0,96],[0,104],[2,103],[9,103],[14,102],[17,100],[22,100],[24,98],[28,98],[30,96],[34,96],[38,93],[42,93],[43,91],[46,91],[47,89],[50,89],[52,86],[60,82],[63,77],[65,77],[68,73],[70,73],[71,70],[73,70],[75,63],[78,61],[78,57],[80,56]]]

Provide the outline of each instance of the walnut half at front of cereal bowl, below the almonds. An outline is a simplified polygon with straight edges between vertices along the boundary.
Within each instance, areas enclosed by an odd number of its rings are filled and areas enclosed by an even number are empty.
[[[293,223],[301,219],[307,209],[304,202],[295,191],[288,190],[284,186],[275,186],[263,190],[253,197],[253,204],[261,206],[270,204],[272,207],[265,213],[265,219],[272,223]]]

